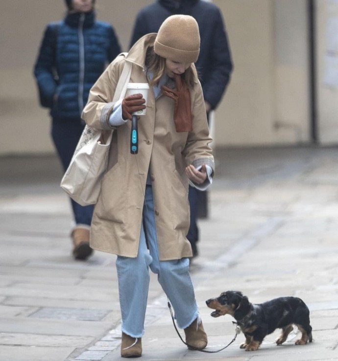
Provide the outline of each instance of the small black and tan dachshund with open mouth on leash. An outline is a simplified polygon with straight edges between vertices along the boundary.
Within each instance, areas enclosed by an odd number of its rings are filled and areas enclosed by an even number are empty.
[[[229,314],[235,318],[245,336],[240,346],[245,351],[256,351],[264,337],[276,329],[282,329],[276,340],[277,345],[281,345],[293,330],[292,325],[302,333],[296,345],[312,342],[309,308],[300,298],[279,297],[263,304],[251,304],[241,292],[227,291],[207,300],[206,304],[215,309],[211,313],[213,317]]]

